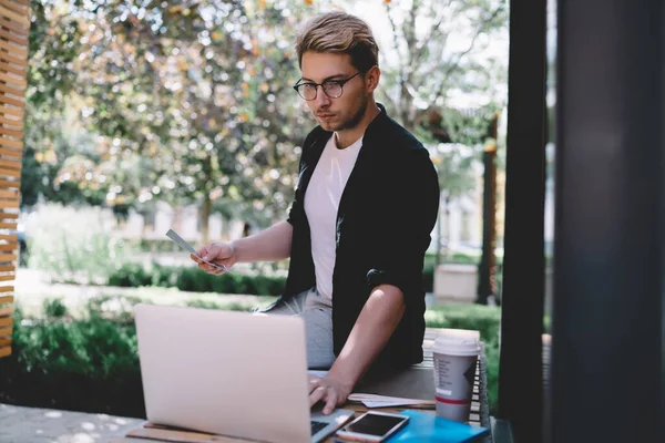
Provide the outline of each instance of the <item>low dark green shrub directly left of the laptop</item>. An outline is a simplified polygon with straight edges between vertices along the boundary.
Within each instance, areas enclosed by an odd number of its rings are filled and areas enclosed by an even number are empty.
[[[0,360],[0,402],[142,416],[134,326],[99,316],[25,319]],[[91,394],[91,393],[94,394]]]

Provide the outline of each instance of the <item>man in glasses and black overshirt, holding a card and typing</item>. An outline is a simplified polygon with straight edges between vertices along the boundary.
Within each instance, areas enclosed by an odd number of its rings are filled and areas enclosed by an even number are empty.
[[[305,319],[309,368],[329,368],[310,379],[310,403],[330,413],[370,367],[422,361],[422,267],[439,185],[427,150],[375,102],[378,48],[364,21],[320,14],[296,49],[294,89],[319,126],[303,146],[288,220],[198,254],[226,267],[290,257],[285,292],[265,312]]]

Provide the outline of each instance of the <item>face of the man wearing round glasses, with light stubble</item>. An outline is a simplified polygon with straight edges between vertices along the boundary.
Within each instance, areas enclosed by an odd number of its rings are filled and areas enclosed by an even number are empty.
[[[307,51],[301,62],[304,82],[323,83],[329,80],[346,80],[358,72],[348,54]],[[321,86],[316,99],[307,101],[309,111],[326,131],[352,130],[360,123],[369,101],[365,76],[359,73],[346,82],[341,96],[330,99]]]

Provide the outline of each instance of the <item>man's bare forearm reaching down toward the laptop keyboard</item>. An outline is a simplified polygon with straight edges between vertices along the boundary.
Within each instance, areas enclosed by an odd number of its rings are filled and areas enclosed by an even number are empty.
[[[376,287],[329,373],[355,385],[388,343],[403,312],[403,296],[397,287]]]

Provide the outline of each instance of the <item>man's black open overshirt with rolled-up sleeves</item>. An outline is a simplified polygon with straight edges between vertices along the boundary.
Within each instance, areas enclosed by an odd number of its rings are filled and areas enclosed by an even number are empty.
[[[422,267],[439,210],[439,181],[428,151],[379,107],[339,202],[332,274],[334,351],[338,356],[344,348],[372,289],[393,285],[403,293],[406,310],[375,368],[401,368],[422,361]],[[288,216],[294,235],[283,298],[316,285],[304,202],[331,135],[317,126],[304,143]]]

